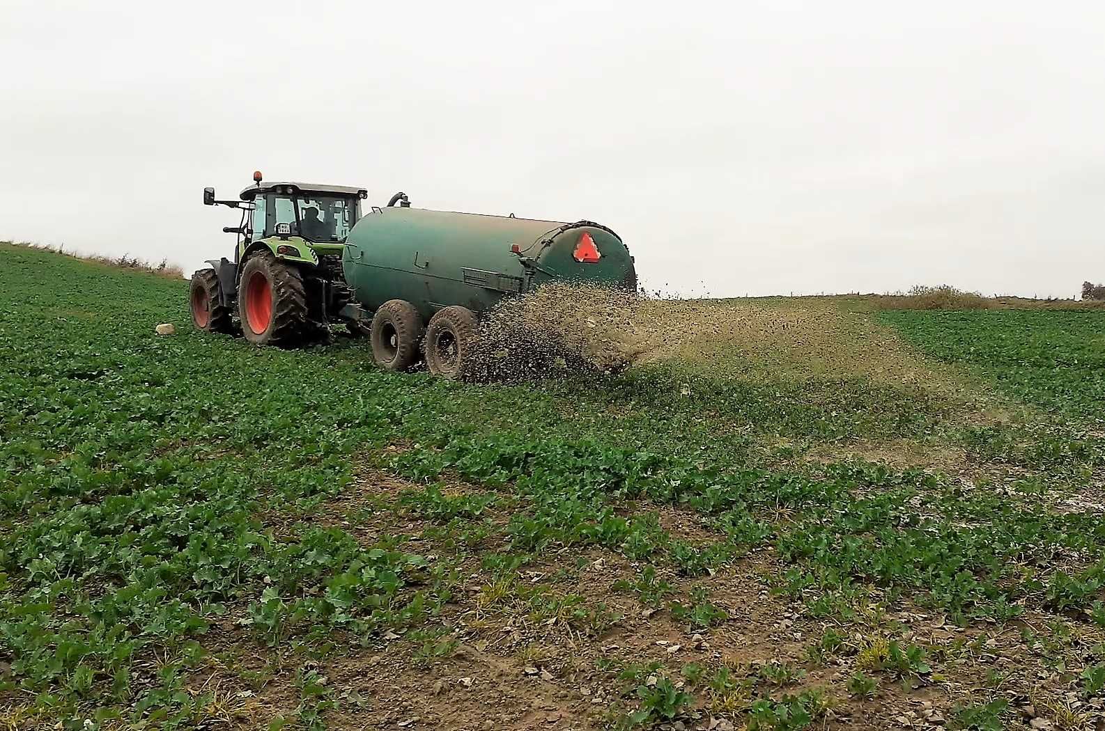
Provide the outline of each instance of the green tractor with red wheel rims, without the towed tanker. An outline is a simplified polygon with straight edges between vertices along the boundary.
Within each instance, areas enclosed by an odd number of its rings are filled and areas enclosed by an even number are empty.
[[[361,215],[362,188],[296,182],[262,184],[260,172],[240,200],[215,200],[203,189],[204,205],[242,211],[233,261],[209,259],[192,276],[191,314],[209,332],[236,332],[259,346],[294,346],[324,332],[332,322],[359,331],[343,317],[351,300],[341,272],[349,231]],[[399,199],[403,202],[403,199]]]

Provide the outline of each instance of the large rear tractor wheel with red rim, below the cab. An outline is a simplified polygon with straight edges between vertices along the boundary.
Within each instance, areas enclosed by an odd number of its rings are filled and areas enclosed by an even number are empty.
[[[257,346],[296,345],[307,326],[303,274],[270,252],[254,254],[242,267],[238,286],[242,335]]]

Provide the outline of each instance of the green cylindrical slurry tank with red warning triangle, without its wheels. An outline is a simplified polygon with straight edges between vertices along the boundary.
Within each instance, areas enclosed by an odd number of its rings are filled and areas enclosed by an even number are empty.
[[[357,222],[343,272],[366,310],[403,299],[427,320],[451,305],[478,312],[551,279],[636,288],[629,250],[598,223],[399,206]]]

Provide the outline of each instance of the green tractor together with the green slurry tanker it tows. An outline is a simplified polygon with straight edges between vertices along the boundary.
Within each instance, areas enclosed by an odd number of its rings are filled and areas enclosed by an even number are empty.
[[[404,193],[361,210],[362,188],[262,184],[240,200],[203,203],[242,211],[234,259],[192,276],[192,321],[251,342],[291,347],[333,325],[367,333],[388,370],[425,362],[456,378],[481,312],[549,280],[636,288],[633,257],[610,229],[411,208]]]

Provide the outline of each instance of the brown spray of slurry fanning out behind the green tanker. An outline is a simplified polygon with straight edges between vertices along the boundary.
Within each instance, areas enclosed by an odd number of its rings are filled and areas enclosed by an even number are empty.
[[[465,377],[517,383],[678,361],[712,378],[950,384],[870,318],[831,304],[672,299],[549,283],[486,312]]]

